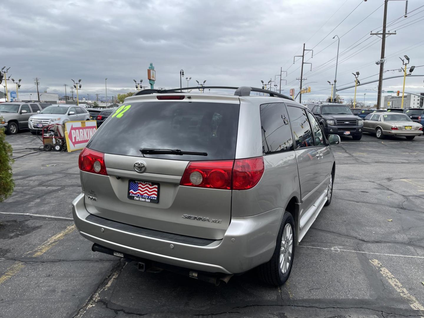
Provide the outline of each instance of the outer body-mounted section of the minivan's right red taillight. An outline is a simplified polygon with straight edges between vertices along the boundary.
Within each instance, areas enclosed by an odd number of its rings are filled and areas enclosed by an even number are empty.
[[[263,157],[236,159],[233,168],[233,190],[253,188],[264,173]]]

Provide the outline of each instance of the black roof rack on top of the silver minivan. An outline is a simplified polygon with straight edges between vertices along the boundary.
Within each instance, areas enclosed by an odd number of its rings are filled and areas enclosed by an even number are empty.
[[[279,97],[279,98],[286,98],[289,100],[294,100],[291,97],[288,97],[286,95],[270,91],[268,89],[262,89],[257,87],[250,87],[250,86],[240,86],[240,87],[234,87],[234,86],[194,86],[194,87],[184,87],[184,88],[173,88],[173,89],[143,89],[141,91],[138,91],[133,96],[136,95],[148,95],[148,94],[166,94],[166,93],[183,93],[183,90],[186,89],[235,89],[234,95],[236,96],[249,96],[250,92],[260,92],[260,93],[266,93],[269,94],[271,97]],[[181,91],[181,92],[179,92]]]

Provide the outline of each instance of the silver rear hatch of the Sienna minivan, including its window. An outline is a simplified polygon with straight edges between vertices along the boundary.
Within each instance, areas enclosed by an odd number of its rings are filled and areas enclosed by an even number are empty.
[[[215,99],[150,95],[117,109],[87,145],[87,151],[104,153],[107,171],[81,173],[87,210],[144,228],[221,239],[231,218],[232,190],[180,185],[190,162],[219,166],[235,158],[240,101]],[[148,148],[193,153],[140,151]]]

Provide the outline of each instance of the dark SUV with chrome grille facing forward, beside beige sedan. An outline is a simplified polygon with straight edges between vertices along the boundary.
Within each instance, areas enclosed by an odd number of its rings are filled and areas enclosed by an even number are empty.
[[[353,140],[362,138],[363,120],[354,115],[348,106],[343,104],[316,105],[312,109],[312,113],[326,135],[352,136]]]

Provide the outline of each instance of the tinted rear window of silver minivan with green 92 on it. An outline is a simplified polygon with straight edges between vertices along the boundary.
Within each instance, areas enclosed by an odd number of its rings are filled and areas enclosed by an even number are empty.
[[[115,110],[112,118],[100,126],[88,148],[140,157],[141,148],[207,153],[144,155],[190,161],[235,158],[239,103],[158,101],[123,105],[126,107]]]

